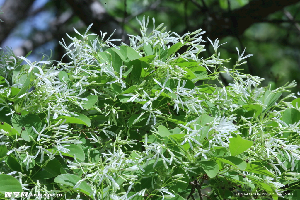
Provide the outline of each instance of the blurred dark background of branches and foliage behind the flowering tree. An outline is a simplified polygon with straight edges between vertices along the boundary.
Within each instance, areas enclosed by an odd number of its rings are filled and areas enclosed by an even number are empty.
[[[263,85],[279,87],[295,79],[300,82],[300,2],[299,0],[0,0],[1,47],[11,46],[17,56],[41,59],[43,52],[60,60],[65,53],[58,44],[65,33],[75,36],[73,27],[84,32],[88,25],[97,34],[115,29],[113,37],[128,43],[127,34],[139,34],[139,19],[149,16],[155,24],[179,35],[202,28],[203,39],[218,38],[222,58],[237,60],[237,46],[246,48],[245,72],[265,78]],[[211,55],[206,48],[203,57]],[[184,49],[181,49],[184,51]],[[229,77],[223,81],[230,82]],[[299,84],[298,84],[299,85]],[[299,86],[293,92],[299,91]]]

